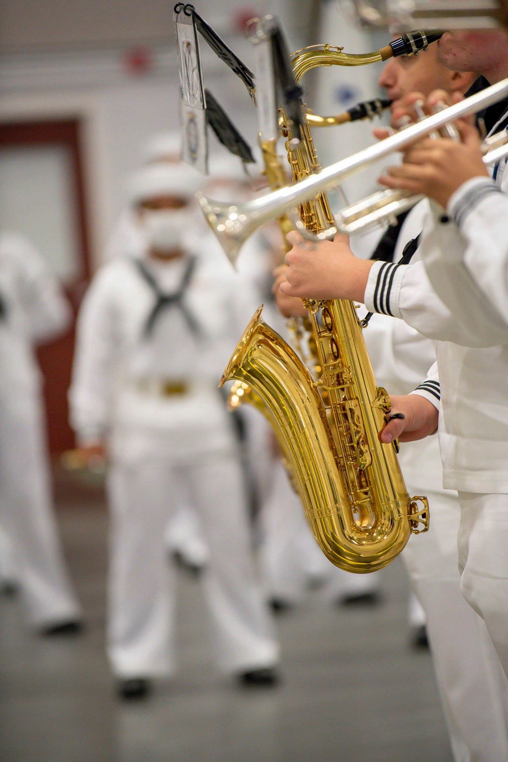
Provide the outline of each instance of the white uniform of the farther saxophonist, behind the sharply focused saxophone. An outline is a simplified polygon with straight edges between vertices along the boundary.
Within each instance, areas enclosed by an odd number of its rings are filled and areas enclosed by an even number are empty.
[[[394,261],[401,257],[404,245],[420,234],[428,208],[425,201],[407,216]],[[417,258],[418,254],[414,256]],[[435,341],[388,315],[374,315],[364,336],[376,379],[391,394],[410,393],[436,358]],[[433,391],[429,386],[431,397]],[[439,396],[439,390],[435,393]],[[506,760],[506,680],[484,621],[461,594],[457,550],[460,504],[455,491],[443,489],[438,438],[401,443],[399,462],[410,495],[429,498],[430,530],[411,537],[402,558],[427,614],[454,758],[456,762]]]

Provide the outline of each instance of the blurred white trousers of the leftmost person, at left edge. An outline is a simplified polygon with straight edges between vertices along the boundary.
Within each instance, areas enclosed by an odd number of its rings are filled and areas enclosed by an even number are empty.
[[[22,408],[0,404],[0,523],[14,551],[30,626],[80,619],[51,505],[40,402],[34,397]]]

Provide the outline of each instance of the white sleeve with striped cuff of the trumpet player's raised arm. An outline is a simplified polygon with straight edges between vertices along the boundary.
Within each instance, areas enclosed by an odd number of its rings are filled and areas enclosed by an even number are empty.
[[[436,293],[463,325],[485,325],[491,345],[508,340],[506,219],[508,195],[489,178],[474,178],[455,192],[420,249]]]

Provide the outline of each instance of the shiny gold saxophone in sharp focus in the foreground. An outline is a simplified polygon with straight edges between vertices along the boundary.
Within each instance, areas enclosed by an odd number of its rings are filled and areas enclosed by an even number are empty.
[[[319,65],[325,56],[320,52]],[[301,58],[297,56],[297,62]],[[324,60],[326,60],[324,58]],[[295,67],[296,79],[302,66]],[[293,181],[319,171],[305,123],[299,141],[283,134]],[[274,146],[262,145],[276,175]],[[321,192],[300,207],[311,232],[334,225]],[[287,220],[281,220],[284,226]],[[234,380],[233,407],[250,402],[270,420],[299,491],[315,538],[327,558],[359,574],[383,568],[404,548],[411,532],[429,526],[427,498],[407,495],[397,445],[382,445],[378,432],[391,402],[377,386],[356,305],[308,301],[314,376],[257,309],[238,342],[219,386]],[[419,506],[419,502],[421,506]]]

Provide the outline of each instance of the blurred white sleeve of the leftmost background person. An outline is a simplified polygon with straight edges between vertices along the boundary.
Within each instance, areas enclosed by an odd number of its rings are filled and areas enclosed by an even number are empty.
[[[72,321],[69,301],[59,281],[39,252],[26,240],[18,239],[21,268],[20,294],[27,331],[34,344],[42,344],[62,334]]]

